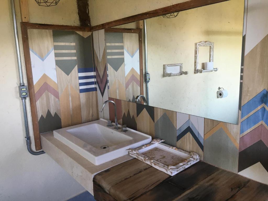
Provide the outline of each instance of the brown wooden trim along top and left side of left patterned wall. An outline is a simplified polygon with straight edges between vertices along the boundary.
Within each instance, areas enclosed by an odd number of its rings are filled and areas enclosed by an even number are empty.
[[[35,90],[34,90],[34,83],[33,83],[30,48],[29,48],[29,38],[28,38],[29,29],[90,32],[90,27],[33,24],[33,23],[21,22],[21,35],[22,35],[26,75],[27,75],[28,93],[29,93],[29,100],[30,100],[30,106],[31,106],[33,137],[35,141],[35,150],[39,151],[41,150],[41,142],[40,142],[39,123],[38,123],[37,106],[36,106]]]

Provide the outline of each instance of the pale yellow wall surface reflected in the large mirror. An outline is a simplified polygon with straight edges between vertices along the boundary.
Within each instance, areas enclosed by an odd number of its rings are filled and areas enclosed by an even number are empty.
[[[243,17],[244,0],[232,0],[186,10],[176,18],[146,20],[150,105],[237,124]],[[195,43],[200,41],[214,42],[218,72],[194,73]],[[207,50],[206,58],[199,55],[200,65],[209,61]],[[163,77],[163,65],[176,63],[183,63],[189,74]],[[228,97],[217,98],[218,87],[228,90]]]

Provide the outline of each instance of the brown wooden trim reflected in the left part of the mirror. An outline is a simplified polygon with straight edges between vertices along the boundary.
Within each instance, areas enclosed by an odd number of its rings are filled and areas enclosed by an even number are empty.
[[[106,28],[104,29],[106,33],[112,32],[112,33],[136,33],[138,34],[138,40],[139,40],[139,62],[140,62],[140,94],[144,95],[144,88],[143,88],[143,32],[142,29],[126,29],[126,28]],[[109,74],[109,71],[108,71]],[[110,95],[109,95],[110,97]],[[111,97],[115,98],[115,97]],[[128,101],[128,100],[126,100]]]

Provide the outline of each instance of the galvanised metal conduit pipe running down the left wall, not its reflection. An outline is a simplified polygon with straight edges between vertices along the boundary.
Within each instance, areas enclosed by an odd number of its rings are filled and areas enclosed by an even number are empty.
[[[14,0],[11,0],[11,10],[12,10],[12,17],[13,17],[13,25],[14,25],[14,37],[15,37],[15,44],[16,44],[16,53],[17,53],[17,62],[18,62],[18,72],[20,76],[20,86],[24,86],[23,82],[23,73],[21,68],[21,58],[20,58],[20,46],[18,43],[18,30],[17,30],[17,21],[16,21],[16,13],[15,13],[15,4]],[[44,151],[33,151],[31,149],[31,141],[29,136],[29,127],[28,127],[28,118],[27,118],[27,110],[26,110],[26,98],[21,98],[22,100],[22,106],[23,106],[23,117],[24,117],[24,126],[25,126],[25,139],[26,139],[26,145],[27,150],[32,155],[40,155],[44,154]]]

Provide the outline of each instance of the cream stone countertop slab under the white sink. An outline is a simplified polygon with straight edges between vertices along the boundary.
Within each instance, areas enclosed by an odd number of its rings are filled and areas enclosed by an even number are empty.
[[[70,147],[60,142],[53,136],[53,132],[40,135],[42,150],[46,152],[55,162],[57,162],[66,172],[68,172],[79,184],[93,195],[93,177],[95,174],[122,162],[132,159],[131,156],[124,155],[114,160],[94,165]]]

